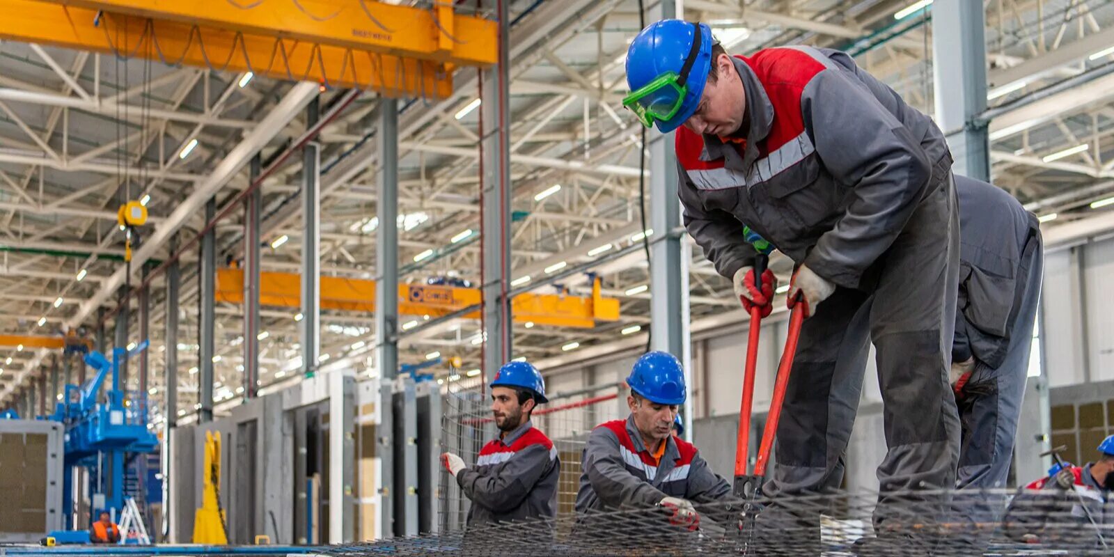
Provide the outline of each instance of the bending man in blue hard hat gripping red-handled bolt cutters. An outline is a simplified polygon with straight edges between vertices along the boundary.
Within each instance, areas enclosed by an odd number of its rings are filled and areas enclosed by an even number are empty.
[[[651,25],[632,42],[626,72],[624,105],[647,127],[677,130],[685,226],[743,304],[769,306],[775,278],[766,272],[764,292],[753,286],[756,252],[742,223],[797,265],[789,300],[811,316],[764,491],[814,494],[842,470],[858,401],[833,392],[834,363],[843,346],[873,341],[888,446],[876,532],[895,528],[896,492],[900,504],[927,502],[920,518],[932,521],[946,501],[909,491],[951,488],[959,453],[948,384],[959,222],[939,128],[843,52],[733,57],[702,23]],[[853,319],[860,312],[868,319]],[[818,548],[814,520],[814,537],[804,531]]]

